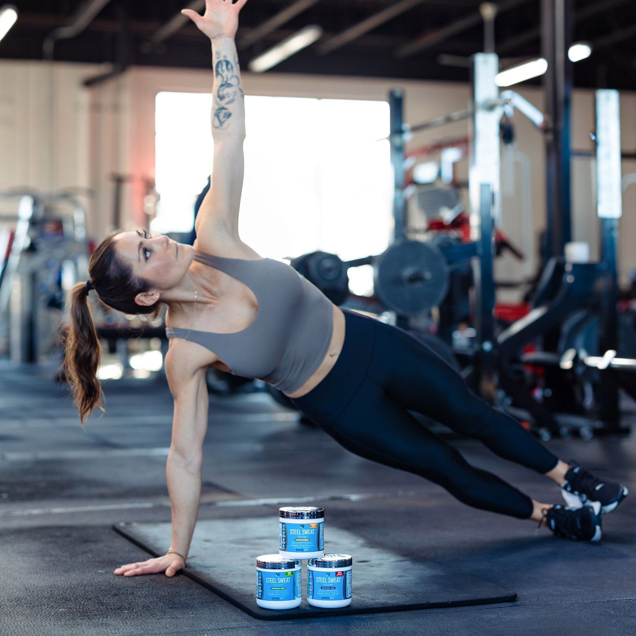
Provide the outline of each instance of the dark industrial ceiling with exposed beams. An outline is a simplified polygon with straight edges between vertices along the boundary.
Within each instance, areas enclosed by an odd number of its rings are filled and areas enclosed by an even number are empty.
[[[1,0],[0,0],[1,1]],[[545,1],[545,0],[543,0]],[[566,0],[567,1],[567,0]],[[48,39],[55,60],[205,68],[209,43],[181,20],[181,0],[13,0],[18,22],[0,58],[42,59],[47,36],[73,25],[93,4],[85,29]],[[190,4],[196,5],[197,0]],[[203,0],[198,1],[204,4]],[[541,0],[502,0],[495,50],[504,65],[541,54]],[[268,73],[321,73],[466,81],[467,58],[483,50],[478,0],[249,0],[237,34],[242,67],[298,29],[317,24],[322,38]],[[90,13],[90,12],[89,12]],[[636,88],[636,2],[576,0],[572,41],[590,58],[574,65],[574,85]]]

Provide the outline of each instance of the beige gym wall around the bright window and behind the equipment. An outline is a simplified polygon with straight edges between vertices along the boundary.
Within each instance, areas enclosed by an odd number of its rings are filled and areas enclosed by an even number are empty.
[[[123,192],[123,223],[144,223],[142,200],[146,181],[154,177],[155,95],[162,90],[208,92],[212,72],[189,69],[134,67],[123,76],[90,89],[81,82],[104,69],[95,65],[43,62],[0,62],[0,190],[29,187],[38,190],[71,188],[86,192],[88,230],[100,238],[113,226],[112,175],[129,181]],[[250,95],[325,97],[332,99],[386,99],[391,88],[405,90],[405,118],[411,123],[466,107],[469,86],[456,83],[406,81],[403,79],[300,76],[294,74],[244,74],[245,92]],[[541,108],[541,90],[519,91]],[[53,109],[49,95],[53,94]],[[573,147],[593,149],[593,92],[577,90],[573,97]],[[187,117],[187,113],[184,113]],[[527,156],[530,189],[520,192],[520,168],[515,162],[515,190],[502,198],[502,226],[511,239],[529,248],[529,260],[518,263],[506,257],[497,263],[501,279],[520,279],[536,267],[536,237],[544,226],[543,137],[523,116],[516,115],[516,152]],[[284,123],[280,123],[284,125]],[[621,93],[621,128],[625,151],[636,149],[636,95]],[[415,148],[446,137],[467,133],[466,121],[420,132],[409,147]],[[508,156],[508,159],[510,156]],[[516,155],[523,159],[522,155]],[[506,156],[502,159],[505,163]],[[624,161],[624,172],[636,172],[636,162]],[[504,177],[511,174],[502,169]],[[574,239],[587,240],[592,254],[598,252],[598,220],[595,215],[595,183],[591,160],[572,161],[572,211]],[[460,181],[467,179],[467,161],[458,165]],[[10,202],[0,200],[0,211]],[[531,219],[523,218],[530,205]],[[621,219],[620,267],[636,268],[636,250],[631,247],[636,232],[636,186],[624,195]],[[412,207],[411,207],[412,210]],[[390,211],[387,210],[387,214]],[[413,218],[413,221],[417,219]]]

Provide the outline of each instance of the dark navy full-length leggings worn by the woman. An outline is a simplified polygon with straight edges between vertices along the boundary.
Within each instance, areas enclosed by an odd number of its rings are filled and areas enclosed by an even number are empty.
[[[408,411],[542,474],[556,466],[555,455],[471,393],[450,364],[406,331],[354,312],[345,318],[338,361],[315,389],[293,400],[298,409],[356,455],[421,475],[474,508],[529,518],[527,495],[468,464]]]

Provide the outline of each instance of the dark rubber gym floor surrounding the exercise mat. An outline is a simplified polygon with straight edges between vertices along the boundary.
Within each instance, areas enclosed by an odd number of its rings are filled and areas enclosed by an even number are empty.
[[[329,523],[415,559],[443,563],[518,593],[515,603],[307,620],[258,621],[184,576],[124,578],[147,555],[111,529],[167,521],[165,381],[104,383],[107,411],[79,427],[50,368],[0,367],[0,632],[13,636],[349,633],[612,635],[636,633],[636,495],[605,517],[600,544],[467,508],[441,488],[343,450],[266,394],[211,396],[200,518],[273,516],[259,498],[364,494],[317,502]],[[636,404],[624,401],[626,424]],[[558,488],[478,443],[452,441],[478,466],[539,501]],[[562,459],[636,491],[636,438],[555,440]],[[249,505],[219,502],[247,499]]]

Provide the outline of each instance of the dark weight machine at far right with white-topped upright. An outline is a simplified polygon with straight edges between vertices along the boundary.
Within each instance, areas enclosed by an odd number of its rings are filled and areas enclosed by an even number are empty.
[[[621,216],[618,92],[597,91],[596,106],[601,260],[565,263],[562,257],[549,259],[537,287],[534,309],[498,339],[501,387],[513,397],[514,403],[532,413],[544,436],[563,432],[550,412],[563,410],[593,418],[597,432],[626,432],[619,424],[618,387],[621,385],[630,394],[635,388],[633,378],[625,373],[630,363],[623,363],[623,368],[620,363],[611,365],[612,355],[616,355],[611,352],[618,348],[616,235]],[[567,212],[567,206],[563,210]],[[521,348],[539,336],[541,342],[535,343],[538,350],[524,354]],[[605,354],[598,356],[600,352]],[[590,364],[586,363],[588,360]],[[527,366],[524,373],[523,367],[518,366],[529,363],[541,373],[530,372]],[[599,373],[606,368],[612,368],[612,373]]]

